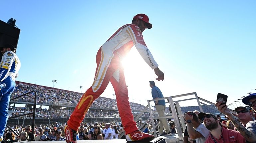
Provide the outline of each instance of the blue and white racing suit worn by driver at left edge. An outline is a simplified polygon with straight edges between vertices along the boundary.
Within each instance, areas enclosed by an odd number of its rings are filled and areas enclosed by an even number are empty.
[[[0,62],[0,84],[5,83],[6,87],[0,90],[0,135],[3,136],[8,119],[8,107],[10,97],[15,89],[15,78],[21,67],[18,56],[7,51],[3,54]]]

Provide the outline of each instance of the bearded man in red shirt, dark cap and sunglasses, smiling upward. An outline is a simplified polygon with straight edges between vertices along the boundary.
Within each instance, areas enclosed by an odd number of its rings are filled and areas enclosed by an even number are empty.
[[[200,112],[198,118],[203,121],[203,124],[210,131],[205,143],[245,143],[245,138],[238,131],[223,128],[215,115]]]

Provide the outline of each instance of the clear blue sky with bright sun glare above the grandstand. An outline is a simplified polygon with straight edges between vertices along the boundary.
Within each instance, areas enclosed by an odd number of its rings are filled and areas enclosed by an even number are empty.
[[[165,97],[197,92],[228,104],[256,92],[256,1],[2,0],[0,20],[16,19],[21,29],[18,81],[82,92],[94,79],[99,47],[139,13],[152,29],[144,40],[165,74],[156,82]],[[133,47],[125,63],[131,102],[152,99],[154,70]],[[103,97],[113,98],[109,84]],[[238,103],[237,103],[238,104]],[[182,105],[182,104],[181,104]],[[184,106],[192,105],[184,103]]]

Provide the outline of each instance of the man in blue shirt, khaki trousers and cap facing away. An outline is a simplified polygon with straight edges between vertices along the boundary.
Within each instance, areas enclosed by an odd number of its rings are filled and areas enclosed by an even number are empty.
[[[150,81],[149,85],[152,88],[151,94],[152,94],[153,99],[164,98],[161,90],[158,87],[156,87],[154,81]],[[157,100],[154,102],[155,102],[155,108],[157,110],[159,117],[164,117],[165,116],[165,100]],[[160,120],[159,130],[158,130],[159,133],[161,135],[172,135],[166,119],[159,119],[159,120]]]

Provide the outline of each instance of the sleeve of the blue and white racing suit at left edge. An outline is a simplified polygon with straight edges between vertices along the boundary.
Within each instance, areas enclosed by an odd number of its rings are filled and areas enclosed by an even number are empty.
[[[5,52],[2,56],[1,60],[1,68],[0,68],[0,82],[5,79],[5,77],[8,75],[7,73],[10,71],[12,67],[12,63],[14,60],[14,54],[11,52]]]

